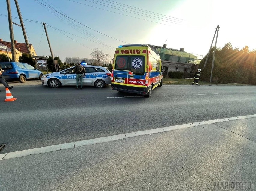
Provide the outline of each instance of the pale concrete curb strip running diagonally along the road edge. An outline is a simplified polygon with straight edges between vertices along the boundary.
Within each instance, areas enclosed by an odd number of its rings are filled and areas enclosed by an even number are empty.
[[[59,145],[51,145],[51,146],[40,147],[40,148],[32,148],[32,149],[28,149],[28,150],[0,154],[0,160],[16,158],[16,157],[23,157],[23,156],[28,156],[28,155],[32,155],[32,154],[46,153],[46,152],[51,152],[51,151],[64,150],[64,149],[68,149],[68,148],[75,148],[75,147],[80,147],[80,146],[85,146],[85,145],[93,145],[93,144],[97,144],[97,143],[105,143],[105,142],[109,142],[109,141],[126,139],[129,137],[135,137],[135,136],[140,136],[140,135],[154,134],[154,133],[172,131],[172,130],[183,129],[183,128],[191,128],[191,127],[196,127],[196,126],[206,125],[206,124],[232,121],[232,120],[237,120],[237,119],[247,119],[247,118],[252,118],[252,117],[256,117],[256,114],[247,115],[247,116],[230,117],[230,118],[224,118],[224,119],[214,119],[214,120],[194,122],[194,123],[187,123],[187,124],[182,124],[182,125],[174,125],[174,126],[170,126],[170,127],[149,129],[149,130],[145,130],[145,131],[137,131],[137,132],[132,132],[132,133],[108,136],[108,137],[100,137],[100,138],[96,138],[96,139],[82,140],[82,141],[71,142],[71,143],[63,143],[63,144],[59,144]]]

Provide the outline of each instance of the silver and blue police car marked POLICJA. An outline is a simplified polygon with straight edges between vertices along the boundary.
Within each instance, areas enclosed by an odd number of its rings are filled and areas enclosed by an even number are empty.
[[[85,67],[86,71],[85,77],[83,78],[83,85],[103,88],[105,85],[111,84],[111,72],[108,68],[102,66],[82,66]],[[75,66],[60,72],[43,75],[41,78],[42,85],[49,86],[51,88],[76,85],[76,74],[74,69]]]

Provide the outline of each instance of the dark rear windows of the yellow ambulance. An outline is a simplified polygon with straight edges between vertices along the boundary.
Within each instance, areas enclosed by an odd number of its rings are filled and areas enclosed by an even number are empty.
[[[144,56],[117,56],[115,62],[116,70],[130,70],[133,74],[143,75],[145,73]]]

